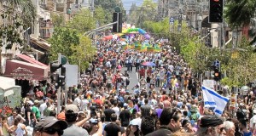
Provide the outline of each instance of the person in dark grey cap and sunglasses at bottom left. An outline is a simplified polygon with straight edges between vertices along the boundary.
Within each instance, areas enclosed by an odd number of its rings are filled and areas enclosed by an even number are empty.
[[[54,116],[47,116],[34,127],[33,136],[61,136],[66,128],[67,122],[58,120]]]

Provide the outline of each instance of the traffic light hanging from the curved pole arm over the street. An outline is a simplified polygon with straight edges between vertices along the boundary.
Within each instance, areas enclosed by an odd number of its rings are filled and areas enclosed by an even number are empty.
[[[113,22],[118,21],[117,24],[113,25],[113,32],[122,32],[122,13],[115,12],[113,13]]]

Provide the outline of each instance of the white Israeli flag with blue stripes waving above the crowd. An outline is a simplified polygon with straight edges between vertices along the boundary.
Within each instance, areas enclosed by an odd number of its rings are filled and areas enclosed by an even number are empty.
[[[202,86],[201,90],[203,92],[205,107],[214,108],[215,114],[221,116],[230,99],[218,94],[212,88]]]

